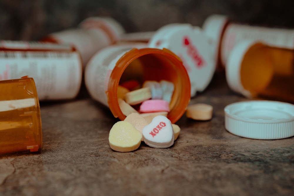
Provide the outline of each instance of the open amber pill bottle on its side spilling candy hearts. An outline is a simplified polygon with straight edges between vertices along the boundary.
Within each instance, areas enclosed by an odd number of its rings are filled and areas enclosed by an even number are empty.
[[[146,80],[171,81],[175,89],[167,117],[175,123],[186,111],[191,97],[190,80],[182,61],[165,48],[136,47],[108,46],[91,58],[85,70],[90,95],[108,106],[114,117],[124,120],[126,116],[117,98],[120,83],[133,79],[141,83]]]

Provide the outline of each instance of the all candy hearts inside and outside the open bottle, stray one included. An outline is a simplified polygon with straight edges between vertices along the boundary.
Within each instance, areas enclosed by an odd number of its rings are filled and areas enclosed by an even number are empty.
[[[141,141],[153,148],[172,146],[181,130],[167,118],[173,91],[173,83],[166,80],[145,81],[142,86],[134,81],[119,85],[118,103],[126,118],[115,123],[109,132],[111,149],[130,152],[138,149]],[[209,120],[212,109],[207,104],[189,105],[186,116]]]

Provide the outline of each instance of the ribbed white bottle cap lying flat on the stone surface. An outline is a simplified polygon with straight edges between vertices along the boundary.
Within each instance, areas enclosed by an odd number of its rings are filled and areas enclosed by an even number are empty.
[[[227,105],[225,129],[235,135],[262,140],[294,135],[294,105],[279,101],[243,101]]]

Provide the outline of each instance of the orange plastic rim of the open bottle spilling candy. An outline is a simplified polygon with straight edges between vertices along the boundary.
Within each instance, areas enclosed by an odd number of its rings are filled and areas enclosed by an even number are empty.
[[[110,75],[110,79],[108,82],[108,90],[106,91],[109,109],[113,113],[114,117],[119,118],[120,120],[124,120],[126,118],[126,116],[122,113],[118,105],[117,88],[119,80],[123,74],[123,71],[132,61],[141,56],[150,54],[161,55],[163,56],[163,59],[165,58],[168,59],[168,61],[171,61],[174,64],[173,68],[176,69],[175,71],[181,77],[181,96],[177,96],[178,100],[176,101],[175,106],[171,109],[167,116],[171,123],[175,123],[177,120],[181,118],[181,116],[185,113],[186,108],[188,107],[191,98],[191,84],[186,68],[183,66],[183,63],[180,60],[180,58],[166,48],[133,48],[130,51],[126,52],[116,62],[116,66],[113,68]],[[171,72],[171,69],[166,70],[166,73]],[[171,101],[173,101],[173,98]]]

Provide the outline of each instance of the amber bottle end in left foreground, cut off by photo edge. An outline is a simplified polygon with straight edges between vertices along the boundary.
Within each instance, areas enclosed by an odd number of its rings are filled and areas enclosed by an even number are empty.
[[[0,153],[38,151],[42,126],[34,79],[0,81],[0,89]]]

